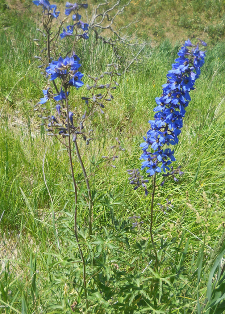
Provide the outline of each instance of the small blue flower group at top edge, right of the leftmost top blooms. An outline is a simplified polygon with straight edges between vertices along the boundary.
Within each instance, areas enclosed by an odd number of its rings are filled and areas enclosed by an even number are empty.
[[[74,4],[70,4],[69,2],[66,2],[65,5],[65,15],[69,16],[70,13],[74,13],[72,15],[72,20],[75,21],[76,23],[74,23],[73,25],[68,25],[66,26],[66,30],[63,28],[62,33],[60,34],[61,39],[64,37],[70,37],[70,36],[74,36],[73,35],[73,30],[74,27],[76,26],[77,29],[81,29],[84,33],[82,34],[75,34],[75,36],[79,37],[79,38],[83,38],[83,39],[88,39],[88,35],[87,35],[87,31],[88,31],[88,24],[84,23],[81,21],[81,15],[78,14],[78,10],[80,8],[87,8],[87,4],[79,4],[79,3],[74,3]]]

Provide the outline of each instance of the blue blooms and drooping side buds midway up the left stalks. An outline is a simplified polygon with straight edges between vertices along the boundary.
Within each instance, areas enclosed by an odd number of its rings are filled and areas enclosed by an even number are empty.
[[[118,86],[118,83],[115,81],[115,76],[120,76],[120,74],[117,73],[116,65],[109,64],[108,67],[110,68],[110,71],[104,72],[99,77],[91,77],[88,75],[88,78],[93,84],[91,84],[91,86],[86,84],[86,90],[89,95],[81,97],[81,99],[85,102],[85,112],[83,114],[81,112],[77,112],[76,108],[72,112],[69,111],[71,110],[69,107],[67,114],[65,100],[67,98],[68,101],[69,88],[75,86],[78,89],[83,85],[83,82],[80,81],[83,74],[77,71],[80,67],[79,60],[80,59],[73,54],[71,58],[66,57],[65,59],[62,59],[60,57],[58,61],[52,61],[49,66],[46,67],[45,71],[49,81],[54,81],[56,79],[59,80],[61,83],[61,90],[59,93],[54,94],[51,88],[43,89],[42,91],[44,97],[40,99],[39,103],[35,106],[34,111],[40,112],[38,116],[42,120],[41,125],[46,127],[45,131],[47,132],[47,135],[56,137],[59,136],[57,138],[60,138],[60,140],[71,135],[73,141],[79,137],[86,142],[86,145],[88,145],[90,140],[93,139],[90,136],[92,129],[91,125],[89,125],[89,129],[85,130],[84,124],[95,112],[99,111],[101,114],[104,114],[102,109],[105,107],[106,103],[113,99],[111,90],[116,89],[116,86]],[[101,79],[105,80],[106,78],[109,78],[109,82],[107,84],[101,84]],[[102,93],[99,93],[99,89],[102,90]],[[49,99],[55,103],[55,114],[44,116],[42,113],[46,110],[46,108],[42,108],[40,105],[46,103]],[[118,138],[116,138],[116,141],[118,145],[111,146],[111,149],[117,147],[116,151],[123,151],[124,149],[120,146]],[[118,156],[114,153],[112,156],[102,156],[102,159],[104,159],[108,164],[110,161],[113,162],[117,158]],[[114,168],[112,165],[109,166]]]

